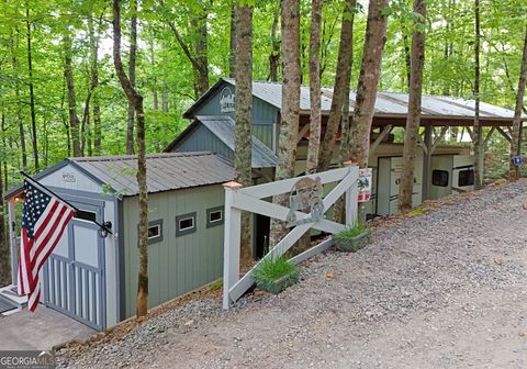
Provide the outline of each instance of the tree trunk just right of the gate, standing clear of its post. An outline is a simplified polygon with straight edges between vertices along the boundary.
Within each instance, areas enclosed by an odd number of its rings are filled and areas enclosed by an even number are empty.
[[[402,213],[412,209],[412,192],[414,189],[414,167],[421,125],[423,68],[425,66],[425,0],[414,0],[414,14],[418,15],[418,19],[412,35],[408,115],[404,132],[403,168],[399,186],[399,209]],[[428,147],[428,149],[431,149],[431,147]],[[429,179],[425,178],[425,180],[428,181]]]

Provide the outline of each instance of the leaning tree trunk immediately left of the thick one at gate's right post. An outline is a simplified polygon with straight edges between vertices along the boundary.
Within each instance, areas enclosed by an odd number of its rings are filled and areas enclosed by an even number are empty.
[[[336,138],[340,120],[343,116],[343,105],[349,104],[346,99],[347,86],[349,86],[351,75],[352,57],[352,36],[354,36],[354,11],[356,0],[348,0],[343,11],[343,26],[340,31],[340,44],[338,46],[337,72],[335,75],[335,87],[333,89],[332,109],[327,119],[326,132],[322,141],[322,148],[318,159],[318,170],[327,170],[332,164],[335,153]]]

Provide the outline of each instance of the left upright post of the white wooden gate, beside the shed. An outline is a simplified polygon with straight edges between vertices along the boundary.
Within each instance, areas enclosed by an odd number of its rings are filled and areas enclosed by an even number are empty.
[[[228,310],[231,297],[228,291],[239,280],[239,247],[242,232],[242,211],[233,208],[233,198],[236,190],[243,188],[240,183],[227,182],[225,189],[225,226],[223,243],[223,309]]]

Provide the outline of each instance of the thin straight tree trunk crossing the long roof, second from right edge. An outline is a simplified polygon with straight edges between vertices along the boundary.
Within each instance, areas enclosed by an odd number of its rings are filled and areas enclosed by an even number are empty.
[[[474,0],[474,188],[480,189],[483,186],[483,139],[480,125],[480,0]]]

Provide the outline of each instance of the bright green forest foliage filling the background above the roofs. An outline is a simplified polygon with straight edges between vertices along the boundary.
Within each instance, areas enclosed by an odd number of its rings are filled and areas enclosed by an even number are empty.
[[[237,0],[238,1],[238,0]],[[269,78],[270,40],[278,0],[240,0],[254,10],[254,78]],[[136,87],[144,97],[147,150],[160,152],[188,124],[182,113],[194,102],[194,70],[178,44],[168,22],[180,30],[191,52],[198,38],[197,26],[206,22],[209,79],[213,83],[229,69],[229,31],[233,0],[142,0]],[[321,80],[335,82],[335,67],[345,1],[323,4]],[[131,18],[130,3],[123,1],[123,60],[126,64]],[[31,152],[31,114],[26,30],[32,35],[32,59],[36,108],[36,138],[41,167],[52,166],[71,155],[67,91],[64,80],[63,36],[72,38],[72,64],[77,114],[82,119],[90,88],[89,25],[99,41],[99,87],[91,97],[101,110],[101,146],[94,148],[93,113],[87,119],[85,155],[125,153],[127,102],[115,77],[112,60],[111,7],[108,1],[22,1],[1,2],[0,12],[0,161],[5,165],[8,187],[20,181],[22,142],[25,135],[27,171],[34,172]],[[26,14],[29,10],[29,15]],[[366,29],[362,2],[357,2],[354,27],[351,89],[359,77]],[[473,85],[473,1],[427,1],[427,18],[413,12],[412,1],[393,0],[389,16],[380,90],[407,91],[406,54],[415,31],[426,31],[424,93],[472,98]],[[309,83],[309,36],[311,1],[301,1],[302,82]],[[350,13],[345,14],[349,19]],[[193,20],[200,19],[194,22]],[[522,56],[523,30],[527,21],[524,0],[482,1],[482,101],[514,107]],[[280,42],[280,22],[277,30]],[[280,71],[279,71],[280,74]],[[279,76],[280,78],[280,76]],[[399,132],[396,138],[402,139]],[[494,138],[495,137],[495,138]],[[487,180],[506,174],[508,143],[498,135],[489,142]]]

